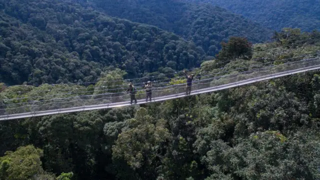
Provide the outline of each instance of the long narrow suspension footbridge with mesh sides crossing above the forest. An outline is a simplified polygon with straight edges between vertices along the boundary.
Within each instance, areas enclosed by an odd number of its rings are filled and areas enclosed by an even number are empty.
[[[243,68],[232,69],[229,70],[228,74],[225,75],[208,73],[206,75],[199,76],[198,79],[193,80],[190,95],[213,92],[285,75],[316,70],[319,68],[320,57],[316,56],[313,58],[304,58],[302,60],[279,63],[277,65],[274,65],[273,61],[272,64],[268,66],[258,64],[253,65],[252,67],[247,66]],[[152,89],[152,102],[189,96],[185,95],[185,83],[168,84],[165,82],[157,84],[160,86]],[[0,120],[131,105],[129,94],[127,92],[123,92],[123,90],[119,92],[103,92],[62,98],[48,98],[43,96],[43,98],[43,100],[28,100],[27,102],[19,103],[3,103],[5,101],[2,100],[2,105],[0,103]],[[136,104],[150,103],[150,101],[147,102],[145,100],[145,91],[143,89],[137,92],[136,98],[138,99]]]

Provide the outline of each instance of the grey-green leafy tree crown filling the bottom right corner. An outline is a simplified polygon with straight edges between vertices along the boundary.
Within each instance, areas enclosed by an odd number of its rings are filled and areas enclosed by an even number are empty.
[[[278,131],[251,134],[230,152],[233,173],[245,179],[317,179],[319,136],[311,131],[289,138]]]

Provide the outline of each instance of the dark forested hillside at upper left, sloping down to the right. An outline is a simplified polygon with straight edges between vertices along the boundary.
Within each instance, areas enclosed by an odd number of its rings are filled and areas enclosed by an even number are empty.
[[[0,5],[0,81],[7,84],[96,81],[110,65],[137,77],[191,68],[205,58],[201,47],[172,32],[73,1]]]

